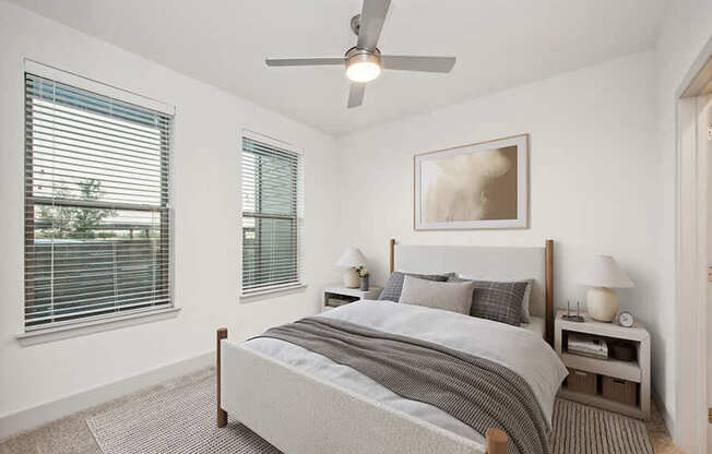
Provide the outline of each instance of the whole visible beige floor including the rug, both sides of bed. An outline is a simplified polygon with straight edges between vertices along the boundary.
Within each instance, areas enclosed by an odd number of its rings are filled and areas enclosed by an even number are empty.
[[[214,427],[214,371],[171,380],[0,442],[0,454],[278,454],[249,429]],[[676,453],[654,413],[641,421],[557,401],[554,454]],[[664,426],[663,426],[664,427]],[[649,437],[650,434],[650,437]],[[652,444],[651,444],[652,439]]]

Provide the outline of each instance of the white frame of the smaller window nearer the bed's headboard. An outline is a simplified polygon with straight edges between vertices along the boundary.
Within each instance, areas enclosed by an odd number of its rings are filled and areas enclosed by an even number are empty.
[[[258,214],[250,213],[246,215],[244,211],[244,168],[242,168],[242,157],[245,153],[245,139],[248,139],[253,142],[262,143],[263,145],[276,148],[283,153],[288,153],[294,156],[296,160],[296,178],[294,180],[294,198],[296,203],[296,210],[294,216],[284,216],[284,215],[271,215],[271,214]],[[238,260],[238,287],[239,287],[239,298],[241,300],[250,300],[251,298],[259,298],[262,296],[269,296],[272,294],[278,292],[288,292],[298,289],[304,289],[307,287],[304,279],[304,232],[305,232],[305,153],[302,148],[299,148],[288,142],[274,139],[270,135],[261,134],[249,129],[244,129],[238,138],[239,148],[238,148],[238,168],[239,168],[239,216],[238,216],[238,230],[239,230],[239,260]],[[258,195],[256,194],[256,203]],[[245,289],[245,218],[256,219],[256,236],[257,236],[257,219],[258,218],[270,218],[270,219],[294,219],[295,230],[294,230],[294,243],[296,247],[295,253],[295,271],[297,278],[294,282],[288,282],[284,284],[270,284],[264,285],[259,288]]]

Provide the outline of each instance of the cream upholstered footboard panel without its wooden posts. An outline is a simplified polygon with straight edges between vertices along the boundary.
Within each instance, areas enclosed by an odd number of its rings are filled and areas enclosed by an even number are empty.
[[[482,444],[221,340],[221,406],[285,454],[485,454]]]

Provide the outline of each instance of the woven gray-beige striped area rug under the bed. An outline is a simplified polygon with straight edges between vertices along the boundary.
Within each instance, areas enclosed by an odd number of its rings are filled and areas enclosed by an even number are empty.
[[[281,454],[235,420],[215,427],[212,377],[138,395],[86,425],[105,454]],[[553,454],[653,454],[642,421],[563,399],[555,404],[551,440]]]

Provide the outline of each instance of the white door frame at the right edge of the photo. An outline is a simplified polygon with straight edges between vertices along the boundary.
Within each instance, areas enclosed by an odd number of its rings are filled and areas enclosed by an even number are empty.
[[[676,443],[707,452],[708,155],[698,96],[712,82],[712,39],[675,93],[676,103]],[[703,153],[704,152],[704,153]],[[691,373],[690,373],[691,372]]]

